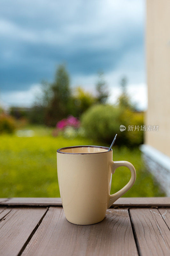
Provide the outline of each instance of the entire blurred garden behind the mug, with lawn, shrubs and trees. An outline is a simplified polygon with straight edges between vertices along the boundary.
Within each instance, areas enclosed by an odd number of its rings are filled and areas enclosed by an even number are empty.
[[[114,145],[114,160],[127,160],[137,171],[135,185],[125,196],[163,196],[159,184],[145,169],[138,146],[143,143],[144,113],[131,103],[127,78],[120,81],[117,103],[108,103],[104,74],[98,74],[96,92],[70,86],[70,76],[59,65],[54,81],[42,83],[41,97],[31,108],[0,109],[0,197],[60,196],[56,149],[76,145]],[[121,132],[120,125],[126,126]],[[134,126],[128,131],[128,126]],[[135,126],[139,129],[135,131]],[[111,193],[129,180],[127,168],[113,175]]]

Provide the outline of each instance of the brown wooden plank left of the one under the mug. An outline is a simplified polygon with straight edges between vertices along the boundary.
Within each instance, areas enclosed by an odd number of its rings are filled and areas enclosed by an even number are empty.
[[[0,255],[18,255],[46,208],[12,208],[0,222]]]

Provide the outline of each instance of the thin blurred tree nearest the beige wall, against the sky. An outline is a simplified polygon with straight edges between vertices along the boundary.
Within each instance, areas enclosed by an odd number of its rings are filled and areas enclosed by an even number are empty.
[[[132,111],[136,110],[135,104],[132,104],[129,98],[129,95],[127,93],[127,84],[128,84],[128,79],[126,76],[123,76],[120,82],[121,89],[122,89],[122,94],[119,96],[117,100],[117,104],[121,108],[127,108]]]

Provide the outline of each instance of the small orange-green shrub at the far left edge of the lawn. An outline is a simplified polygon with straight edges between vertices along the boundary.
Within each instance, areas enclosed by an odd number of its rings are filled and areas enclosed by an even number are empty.
[[[16,127],[15,120],[11,116],[0,115],[0,133],[12,133]]]

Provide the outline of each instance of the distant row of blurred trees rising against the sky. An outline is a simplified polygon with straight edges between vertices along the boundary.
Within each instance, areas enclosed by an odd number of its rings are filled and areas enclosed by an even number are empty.
[[[121,80],[122,94],[118,104],[135,110],[126,93],[127,79]],[[37,97],[31,108],[11,107],[10,114],[17,119],[27,118],[32,124],[55,126],[68,115],[80,117],[89,107],[95,104],[106,104],[109,97],[107,83],[103,72],[98,73],[94,94],[86,92],[81,86],[71,88],[70,76],[65,65],[59,65],[55,72],[54,82],[42,82],[41,96]]]

